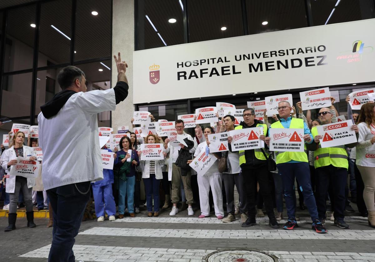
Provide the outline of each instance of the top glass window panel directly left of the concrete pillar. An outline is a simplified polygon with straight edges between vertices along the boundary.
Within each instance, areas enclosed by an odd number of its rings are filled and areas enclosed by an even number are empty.
[[[111,56],[111,7],[111,0],[77,1],[75,61]]]

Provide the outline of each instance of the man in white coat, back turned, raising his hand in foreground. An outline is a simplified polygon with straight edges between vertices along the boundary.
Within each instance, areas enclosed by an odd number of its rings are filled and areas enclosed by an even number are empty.
[[[97,113],[115,110],[129,88],[127,64],[120,53],[114,59],[118,71],[114,88],[86,92],[83,71],[67,66],[57,76],[63,90],[40,107],[42,178],[54,220],[49,262],[75,261],[72,247],[90,198],[90,182],[103,179]]]

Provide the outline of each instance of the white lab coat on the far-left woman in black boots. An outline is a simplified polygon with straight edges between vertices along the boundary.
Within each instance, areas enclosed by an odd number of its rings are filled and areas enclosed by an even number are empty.
[[[23,147],[23,157],[24,158],[30,158],[30,156],[36,156],[36,153],[34,153],[34,149],[29,146],[22,146]],[[5,173],[10,172],[10,166],[8,168],[8,162],[10,160],[17,159],[16,152],[14,151],[14,146],[8,148],[3,152],[3,155],[1,155],[1,167],[5,170]],[[6,179],[6,186],[5,186],[5,192],[7,193],[14,193],[16,183],[16,176],[10,176]],[[27,178],[27,187],[32,188],[35,186],[35,179],[33,178]]]

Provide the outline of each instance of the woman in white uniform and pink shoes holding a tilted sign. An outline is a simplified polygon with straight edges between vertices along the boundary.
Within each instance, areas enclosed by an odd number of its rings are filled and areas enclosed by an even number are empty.
[[[205,141],[200,143],[198,147],[196,147],[194,156],[199,156],[203,152],[206,155],[209,153],[208,146],[210,142],[208,141],[208,134],[213,134],[214,130],[212,127],[206,127],[204,129],[204,137]],[[221,158],[221,152],[219,153],[210,153],[213,154],[217,159]],[[187,163],[193,162],[193,160],[188,160]],[[222,174],[219,173],[219,164],[217,161],[204,173],[198,173],[198,187],[199,187],[199,201],[201,205],[201,215],[199,218],[204,218],[210,215],[210,204],[208,201],[208,196],[210,193],[210,187],[213,196],[213,203],[215,208],[215,215],[217,219],[223,219],[224,217],[224,210],[223,210],[223,194],[222,194]]]

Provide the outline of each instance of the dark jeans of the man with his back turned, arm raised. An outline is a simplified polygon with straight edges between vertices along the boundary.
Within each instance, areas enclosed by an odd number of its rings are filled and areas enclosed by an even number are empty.
[[[59,186],[47,190],[53,210],[52,245],[48,262],[74,262],[72,247],[81,226],[83,212],[90,198],[90,181]]]

